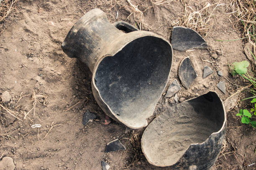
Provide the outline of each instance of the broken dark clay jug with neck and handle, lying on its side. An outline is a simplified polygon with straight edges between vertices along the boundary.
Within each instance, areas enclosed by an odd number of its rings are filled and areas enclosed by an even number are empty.
[[[172,65],[167,40],[123,21],[111,24],[103,11],[93,9],[61,47],[90,68],[93,95],[109,117],[133,129],[148,125]]]

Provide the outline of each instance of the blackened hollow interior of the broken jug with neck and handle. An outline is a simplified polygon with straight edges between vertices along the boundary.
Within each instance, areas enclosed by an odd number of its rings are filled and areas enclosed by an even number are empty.
[[[172,48],[165,40],[140,37],[100,62],[95,85],[118,120],[141,127],[154,112],[171,65]]]

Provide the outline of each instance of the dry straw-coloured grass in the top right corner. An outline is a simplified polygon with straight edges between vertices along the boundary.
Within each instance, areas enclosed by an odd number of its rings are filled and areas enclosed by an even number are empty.
[[[236,27],[242,30],[243,36],[253,45],[253,53],[256,54],[256,1],[255,0],[231,0],[228,10],[237,20]]]

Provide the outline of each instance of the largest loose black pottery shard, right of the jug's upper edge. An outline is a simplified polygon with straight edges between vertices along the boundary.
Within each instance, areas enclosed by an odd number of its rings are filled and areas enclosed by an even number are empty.
[[[195,30],[185,27],[174,27],[172,31],[172,48],[175,50],[189,50],[193,48],[207,48],[207,42]]]

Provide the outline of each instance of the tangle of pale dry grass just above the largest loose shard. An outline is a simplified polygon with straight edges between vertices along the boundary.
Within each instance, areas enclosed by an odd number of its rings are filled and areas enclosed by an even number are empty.
[[[197,31],[203,37],[206,37],[213,26],[213,17],[215,10],[220,5],[220,2],[210,4],[209,2],[203,2],[196,5],[196,9],[189,6],[187,0],[181,0],[184,6],[184,12],[179,14],[179,18],[175,20],[172,26],[182,26],[191,28]]]

